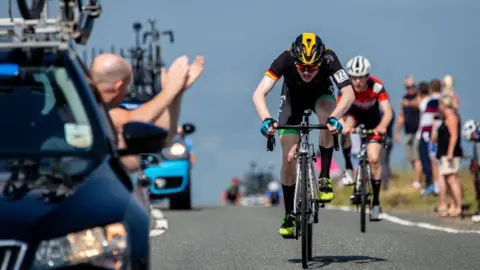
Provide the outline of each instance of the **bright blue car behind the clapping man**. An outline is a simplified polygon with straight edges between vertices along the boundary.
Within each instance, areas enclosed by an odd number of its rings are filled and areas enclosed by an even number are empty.
[[[185,135],[195,131],[193,124],[182,126]],[[152,199],[170,199],[170,209],[188,210],[192,208],[191,200],[191,161],[192,151],[189,138],[176,136],[171,147],[160,153],[143,155],[148,164],[144,173],[152,179],[150,197]]]

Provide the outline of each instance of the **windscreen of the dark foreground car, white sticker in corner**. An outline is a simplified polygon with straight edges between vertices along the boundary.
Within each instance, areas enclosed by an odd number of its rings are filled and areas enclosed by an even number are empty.
[[[0,76],[0,153],[79,153],[93,145],[85,107],[64,67]]]

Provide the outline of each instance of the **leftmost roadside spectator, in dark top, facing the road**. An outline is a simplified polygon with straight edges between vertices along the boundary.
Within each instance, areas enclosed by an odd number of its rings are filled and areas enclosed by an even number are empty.
[[[416,99],[417,91],[415,87],[415,79],[409,75],[405,77],[404,86],[407,93],[402,97],[400,104],[400,113],[397,118],[397,128],[395,140],[401,143],[401,131],[404,128],[404,144],[407,159],[414,170],[413,187],[415,189],[421,188],[420,179],[422,177],[422,164],[418,154],[418,140],[415,139],[415,133],[418,129],[420,113],[418,108],[408,106],[410,102]]]

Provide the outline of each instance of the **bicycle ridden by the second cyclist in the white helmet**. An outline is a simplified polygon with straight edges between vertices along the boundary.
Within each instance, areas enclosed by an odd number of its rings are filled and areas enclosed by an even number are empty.
[[[365,129],[364,124],[360,124],[357,128],[354,129],[352,132],[354,134],[360,135],[360,153],[357,155],[359,160],[357,175],[355,177],[355,186],[353,189],[353,198],[351,198],[351,203],[357,205],[358,211],[358,198],[360,198],[360,231],[365,233],[366,231],[366,219],[367,219],[367,205],[369,206],[369,210],[371,213],[372,206],[370,197],[372,193],[371,186],[371,170],[370,164],[368,163],[368,156],[367,156],[367,138],[368,135],[373,135],[374,132],[372,129]],[[382,145],[384,148],[387,147],[385,144],[385,136],[382,136]],[[370,217],[371,220],[371,217]]]

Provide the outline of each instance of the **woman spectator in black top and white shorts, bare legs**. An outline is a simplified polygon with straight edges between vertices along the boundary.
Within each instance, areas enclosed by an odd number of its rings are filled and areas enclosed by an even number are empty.
[[[457,112],[457,102],[452,95],[442,95],[440,98],[440,114],[442,123],[433,138],[438,144],[436,157],[440,160],[441,180],[439,181],[440,205],[438,211],[442,217],[458,217],[462,213],[463,203],[462,187],[458,177],[463,149],[459,135],[461,121]],[[447,188],[451,190],[453,196],[453,203],[448,210]]]

